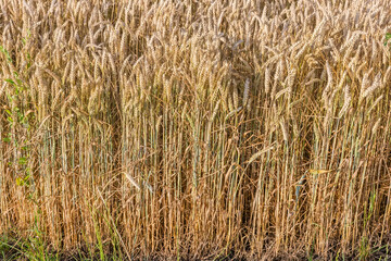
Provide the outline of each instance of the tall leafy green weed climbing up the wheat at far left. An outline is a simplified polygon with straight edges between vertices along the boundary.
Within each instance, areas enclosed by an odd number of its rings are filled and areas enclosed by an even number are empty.
[[[29,32],[27,38],[23,38],[23,46],[27,44],[29,38]],[[2,46],[0,51],[4,54],[10,67],[13,67],[15,61],[12,60],[10,52]],[[26,53],[27,65],[25,70],[31,66],[30,54]],[[34,110],[29,109],[29,104],[24,101],[25,92],[28,91],[28,85],[23,79],[22,75],[26,75],[26,72],[22,73],[13,71],[12,78],[5,78],[4,82],[11,87],[8,88],[7,99],[9,107],[4,109],[8,121],[8,129],[3,141],[10,144],[13,147],[13,160],[8,162],[9,167],[16,173],[15,184],[25,190],[26,199],[30,201],[36,208],[34,214],[34,224],[31,235],[18,246],[12,246],[13,249],[17,249],[23,256],[28,257],[29,260],[52,260],[46,253],[46,243],[43,241],[42,232],[39,229],[41,211],[39,210],[37,194],[31,186],[33,173],[29,164],[30,157],[30,144],[31,144],[31,122],[35,120]],[[9,245],[10,246],[10,245]]]

